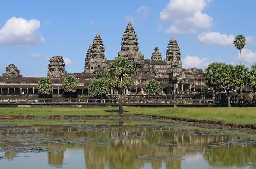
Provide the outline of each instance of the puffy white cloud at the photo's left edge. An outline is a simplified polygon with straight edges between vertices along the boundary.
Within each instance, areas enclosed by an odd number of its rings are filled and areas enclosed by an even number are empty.
[[[0,45],[34,45],[44,43],[38,32],[40,21],[36,19],[10,18],[0,30]]]

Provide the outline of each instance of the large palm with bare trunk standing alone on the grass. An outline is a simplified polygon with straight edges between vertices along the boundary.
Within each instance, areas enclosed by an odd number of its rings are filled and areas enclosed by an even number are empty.
[[[124,89],[131,87],[134,83],[131,78],[135,74],[134,66],[126,57],[117,57],[110,62],[106,72],[109,85],[117,89],[120,94],[119,114],[123,114],[122,94]]]

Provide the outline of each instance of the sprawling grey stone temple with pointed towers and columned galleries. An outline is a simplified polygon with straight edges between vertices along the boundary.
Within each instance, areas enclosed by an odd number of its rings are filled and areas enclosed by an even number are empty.
[[[104,40],[104,39],[103,39]],[[105,70],[110,61],[105,56],[105,47],[100,34],[96,34],[93,43],[90,44],[85,56],[84,72],[67,73],[62,56],[53,56],[49,60],[47,77],[53,82],[53,98],[61,97],[63,94],[62,82],[67,75],[73,74],[79,81],[77,88],[78,98],[88,96],[88,86],[99,71]],[[181,52],[179,45],[174,37],[169,41],[166,49],[166,56],[163,59],[158,47],[152,49],[150,59],[139,51],[138,37],[131,22],[128,23],[121,43],[121,50],[118,57],[127,57],[136,68],[135,80],[130,89],[124,90],[124,95],[137,98],[144,97],[145,86],[148,80],[155,79],[161,86],[160,95],[175,97],[177,93],[194,93],[207,89],[204,84],[203,70],[197,68],[183,69]],[[6,73],[0,77],[0,94],[7,95],[30,95],[37,97],[37,82],[40,77],[22,77],[19,70],[13,64],[6,67]],[[111,89],[110,96],[117,91]],[[192,95],[191,95],[192,98]]]

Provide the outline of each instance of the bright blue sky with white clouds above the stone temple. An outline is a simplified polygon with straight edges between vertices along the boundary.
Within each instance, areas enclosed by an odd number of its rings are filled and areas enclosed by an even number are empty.
[[[23,76],[45,77],[49,58],[63,56],[67,73],[82,73],[86,52],[97,33],[106,58],[118,55],[129,21],[139,50],[163,59],[174,36],[183,68],[211,62],[239,64],[233,39],[247,38],[242,63],[256,62],[255,0],[0,0],[0,74],[15,64]]]

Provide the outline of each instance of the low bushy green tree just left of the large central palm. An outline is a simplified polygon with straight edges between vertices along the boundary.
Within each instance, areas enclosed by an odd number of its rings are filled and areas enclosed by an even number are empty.
[[[108,82],[106,79],[93,79],[88,88],[88,94],[94,97],[99,96],[103,98],[110,91]]]

